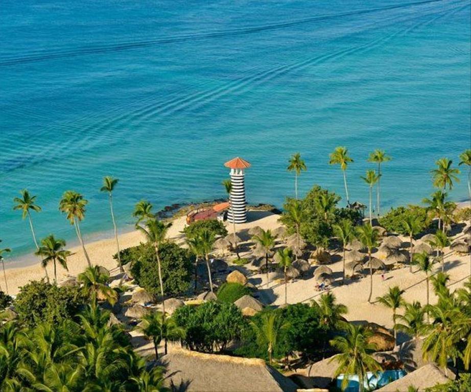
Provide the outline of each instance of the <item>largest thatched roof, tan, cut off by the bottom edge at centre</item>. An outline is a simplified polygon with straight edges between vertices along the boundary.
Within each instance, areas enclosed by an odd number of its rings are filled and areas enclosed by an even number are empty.
[[[295,392],[297,385],[263,359],[204,354],[176,349],[160,358],[165,385],[186,392]]]

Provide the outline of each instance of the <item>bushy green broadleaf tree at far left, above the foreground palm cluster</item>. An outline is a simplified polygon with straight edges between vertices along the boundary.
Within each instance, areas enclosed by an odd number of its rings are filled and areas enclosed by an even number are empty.
[[[20,325],[34,327],[41,322],[54,324],[73,317],[84,301],[77,286],[59,287],[41,280],[21,287],[14,304]]]

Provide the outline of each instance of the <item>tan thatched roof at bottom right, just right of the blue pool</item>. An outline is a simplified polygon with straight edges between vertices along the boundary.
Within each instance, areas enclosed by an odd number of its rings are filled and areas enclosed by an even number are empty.
[[[450,376],[452,376],[452,373]],[[454,378],[454,377],[453,377]],[[412,373],[393,381],[380,389],[376,389],[378,392],[395,392],[396,390],[408,390],[409,386],[414,386],[419,391],[423,391],[426,388],[435,386],[436,384],[444,384],[449,382],[450,378],[445,377],[443,372],[438,369],[437,365],[428,363],[425,366],[420,367]]]

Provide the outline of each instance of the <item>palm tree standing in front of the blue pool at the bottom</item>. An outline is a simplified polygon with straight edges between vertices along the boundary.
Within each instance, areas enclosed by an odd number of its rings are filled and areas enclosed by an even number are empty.
[[[367,372],[380,371],[381,365],[371,356],[376,351],[376,345],[369,343],[372,332],[363,326],[346,324],[346,335],[336,336],[330,341],[340,354],[334,355],[330,362],[337,360],[339,366],[334,373],[334,378],[343,373],[342,390],[348,385],[350,376],[357,375],[359,390],[364,390],[364,382]]]

